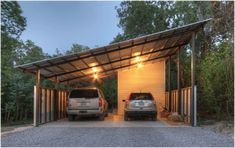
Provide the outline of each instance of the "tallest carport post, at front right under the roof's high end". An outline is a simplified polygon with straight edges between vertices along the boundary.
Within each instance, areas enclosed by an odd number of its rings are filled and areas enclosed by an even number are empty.
[[[191,54],[191,124],[192,126],[196,126],[196,106],[195,106],[195,32],[192,34],[192,54]]]

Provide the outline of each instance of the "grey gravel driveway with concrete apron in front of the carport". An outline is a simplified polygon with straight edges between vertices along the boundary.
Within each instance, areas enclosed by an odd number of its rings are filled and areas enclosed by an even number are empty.
[[[169,126],[161,121],[75,121],[44,124],[1,137],[2,146],[73,147],[233,147],[234,139],[200,127]]]

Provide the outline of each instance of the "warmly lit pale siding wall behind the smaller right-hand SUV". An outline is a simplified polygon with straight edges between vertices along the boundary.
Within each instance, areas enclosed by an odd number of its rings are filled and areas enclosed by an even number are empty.
[[[118,114],[124,114],[124,102],[131,92],[151,92],[158,110],[165,106],[165,61],[118,72]]]

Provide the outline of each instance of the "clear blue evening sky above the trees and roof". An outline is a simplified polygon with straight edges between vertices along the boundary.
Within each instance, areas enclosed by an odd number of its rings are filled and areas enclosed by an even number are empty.
[[[115,6],[120,2],[19,2],[26,17],[21,39],[32,40],[45,53],[65,52],[77,43],[90,48],[109,44],[121,33]]]

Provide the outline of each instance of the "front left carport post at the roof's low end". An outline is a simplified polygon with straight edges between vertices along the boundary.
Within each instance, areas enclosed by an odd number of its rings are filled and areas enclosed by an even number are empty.
[[[39,125],[39,103],[40,103],[40,67],[37,68],[37,85],[34,87],[34,126]]]

